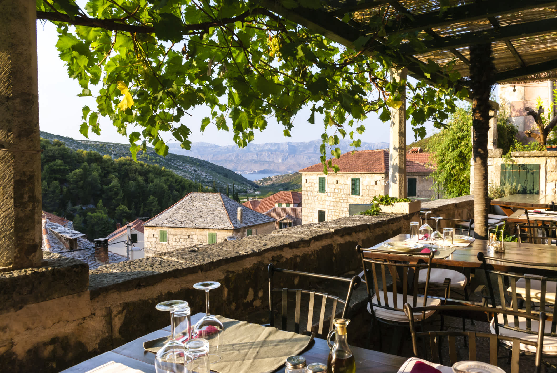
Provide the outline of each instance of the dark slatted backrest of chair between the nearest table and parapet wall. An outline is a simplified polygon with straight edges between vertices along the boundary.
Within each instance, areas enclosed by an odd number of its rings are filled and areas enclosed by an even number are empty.
[[[317,292],[315,290],[307,290],[307,289],[289,289],[289,288],[273,288],[273,275],[275,273],[282,273],[285,275],[289,275],[292,278],[295,277],[306,277],[312,279],[324,279],[324,280],[333,280],[334,282],[343,283],[346,286],[346,297],[344,299],[333,296],[331,294]],[[350,307],[350,298],[352,296],[352,292],[354,289],[358,287],[361,283],[361,278],[359,276],[354,276],[352,278],[345,278],[345,277],[337,277],[325,274],[317,274],[317,273],[309,273],[309,272],[300,272],[291,269],[283,269],[283,268],[276,268],[274,265],[269,264],[268,266],[268,279],[269,279],[269,324],[271,326],[280,328],[281,330],[287,330],[289,324],[289,316],[294,316],[294,332],[295,333],[304,333],[310,334],[311,332],[315,332],[316,336],[319,338],[325,338],[327,333],[333,329],[333,322],[336,317],[336,313],[338,313],[340,306],[343,306],[342,313],[340,315],[341,318],[346,316],[346,313]],[[275,313],[273,311],[273,294],[280,294],[281,296],[281,307],[280,307],[280,324],[275,322]],[[304,298],[304,303],[302,303],[302,298]],[[317,298],[317,304],[316,299]],[[320,299],[320,301],[319,301]],[[289,300],[295,302],[294,312],[292,315],[292,310],[289,311]],[[307,322],[305,326],[305,330],[300,331],[300,322],[302,320],[302,308],[305,311],[305,302],[307,301]],[[319,312],[319,324],[317,325],[316,330],[314,330],[313,322],[314,322],[314,311],[317,309],[320,303],[320,312]],[[329,313],[330,312],[330,313]],[[327,319],[325,316],[329,316],[330,322],[328,328],[325,329],[325,322]],[[291,321],[291,318],[290,318]],[[291,322],[290,322],[291,324]]]

